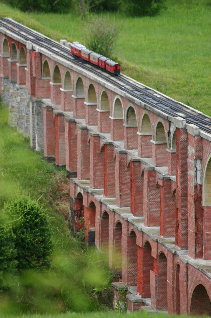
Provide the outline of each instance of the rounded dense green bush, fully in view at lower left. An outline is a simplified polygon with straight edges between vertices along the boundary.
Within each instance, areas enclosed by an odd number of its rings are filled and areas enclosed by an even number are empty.
[[[48,267],[52,253],[51,229],[38,200],[18,197],[4,205],[16,235],[17,267],[19,269]]]

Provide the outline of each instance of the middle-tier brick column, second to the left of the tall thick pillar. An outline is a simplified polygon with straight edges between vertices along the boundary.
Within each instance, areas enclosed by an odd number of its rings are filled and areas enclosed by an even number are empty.
[[[144,168],[144,225],[160,226],[160,189],[156,186],[156,172],[153,165]]]

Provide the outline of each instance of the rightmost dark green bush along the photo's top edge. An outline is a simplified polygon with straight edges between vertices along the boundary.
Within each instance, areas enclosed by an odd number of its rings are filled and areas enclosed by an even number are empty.
[[[167,8],[165,3],[166,0],[121,0],[121,9],[130,16],[154,16]]]

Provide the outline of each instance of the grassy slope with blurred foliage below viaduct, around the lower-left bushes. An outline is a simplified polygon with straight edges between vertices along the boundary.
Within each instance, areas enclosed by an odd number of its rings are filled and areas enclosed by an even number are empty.
[[[7,126],[8,111],[0,109],[0,216],[4,203],[21,196],[39,199],[48,213],[52,228],[53,254],[50,268],[15,269],[14,237],[11,227],[6,235],[10,246],[1,246],[10,253],[10,264],[4,266],[4,288],[0,293],[2,315],[60,314],[70,312],[105,311],[111,307],[112,274],[107,255],[90,249],[71,235],[59,206],[63,206],[58,191],[68,184],[64,170],[30,149],[29,139]],[[62,205],[63,204],[63,205]],[[4,232],[3,232],[4,231]],[[1,239],[1,236],[0,236]],[[99,289],[95,293],[96,288]]]

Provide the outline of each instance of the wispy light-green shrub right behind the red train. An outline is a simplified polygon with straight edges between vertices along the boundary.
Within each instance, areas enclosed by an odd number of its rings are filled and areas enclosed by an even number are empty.
[[[88,27],[86,46],[89,50],[111,58],[121,25],[107,17],[96,18]]]

